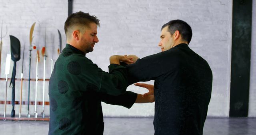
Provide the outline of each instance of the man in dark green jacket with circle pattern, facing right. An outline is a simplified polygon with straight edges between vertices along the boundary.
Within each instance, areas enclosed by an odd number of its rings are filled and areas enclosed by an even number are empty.
[[[126,56],[111,56],[109,72],[102,71],[85,55],[93,51],[99,20],[88,13],[76,12],[65,22],[67,44],[50,77],[49,135],[103,135],[101,101],[126,108],[135,103],[154,101],[154,95],[126,91],[126,67],[133,63]]]

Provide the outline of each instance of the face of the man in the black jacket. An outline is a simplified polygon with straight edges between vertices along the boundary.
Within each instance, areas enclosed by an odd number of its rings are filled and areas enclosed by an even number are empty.
[[[162,52],[171,49],[172,46],[174,45],[174,37],[167,30],[168,30],[168,26],[163,28],[163,30],[161,32],[161,36],[160,36],[161,40],[158,44],[158,46],[160,46]]]

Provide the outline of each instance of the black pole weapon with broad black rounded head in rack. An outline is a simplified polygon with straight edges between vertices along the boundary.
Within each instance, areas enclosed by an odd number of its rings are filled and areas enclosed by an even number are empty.
[[[12,113],[11,117],[15,117],[15,76],[16,76],[16,62],[20,60],[20,41],[18,38],[10,35],[11,40],[11,54],[12,54],[12,61],[14,62],[13,69],[12,69],[12,79],[10,82],[10,86],[12,84]]]

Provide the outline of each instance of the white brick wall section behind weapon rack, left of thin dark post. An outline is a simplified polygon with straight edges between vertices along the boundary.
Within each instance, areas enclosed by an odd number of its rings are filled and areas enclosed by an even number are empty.
[[[10,38],[9,34],[17,37],[21,42],[21,55],[23,53],[23,46],[25,44],[25,56],[24,56],[24,78],[28,78],[29,70],[29,32],[30,27],[34,22],[36,26],[34,29],[33,45],[37,46],[40,50],[44,46],[44,33],[46,28],[46,55],[48,55],[46,61],[46,78],[50,78],[51,73],[51,58],[54,60],[58,57],[58,31],[62,34],[62,43],[65,44],[66,38],[64,33],[64,22],[68,16],[68,1],[67,0],[0,0],[0,21],[3,20],[3,31],[6,32],[6,25],[8,26],[8,35],[3,39],[2,45],[2,61],[1,61],[1,78],[5,78],[5,61],[6,54],[10,54]],[[0,22],[1,23],[1,22]],[[13,65],[13,62],[11,62]],[[22,66],[21,60],[17,62],[16,78],[20,78]],[[43,78],[43,57],[40,54],[40,63],[38,64],[38,77]],[[11,77],[12,66],[10,69]],[[31,78],[36,78],[36,50],[32,51],[31,60]],[[8,81],[9,86],[10,81]],[[0,81],[0,100],[4,100],[5,94],[5,81]],[[42,81],[38,82],[38,99],[42,101]],[[20,100],[20,81],[16,81],[16,101]],[[11,100],[11,88],[8,87],[7,100]],[[23,81],[22,101],[28,100],[28,81]],[[46,81],[45,100],[49,101],[48,96],[48,81]],[[30,101],[35,101],[35,81],[30,81]],[[7,115],[10,115],[12,105],[7,105]],[[19,105],[15,105],[16,117],[19,114]],[[22,106],[22,115],[26,115],[27,105]],[[42,112],[42,105],[38,106],[38,115]],[[0,105],[0,115],[2,117],[4,113],[4,105]],[[45,107],[46,115],[49,115],[49,106]],[[30,105],[30,114],[34,115],[34,105]]]

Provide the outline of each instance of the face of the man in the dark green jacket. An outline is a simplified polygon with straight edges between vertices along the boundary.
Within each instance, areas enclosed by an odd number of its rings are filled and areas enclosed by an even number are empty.
[[[88,53],[93,51],[93,47],[95,43],[98,43],[97,35],[97,25],[95,23],[91,23],[90,27],[86,28],[84,34],[81,36],[81,44],[83,52]]]

